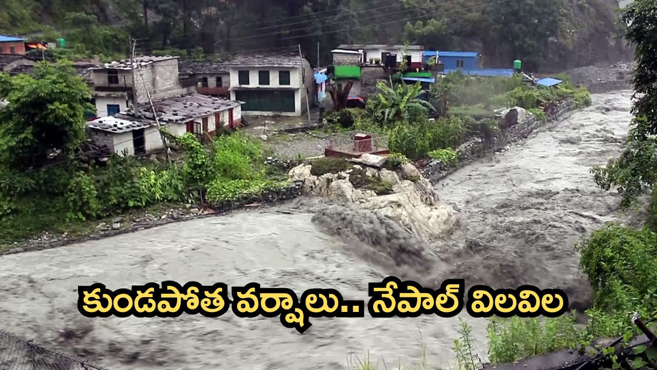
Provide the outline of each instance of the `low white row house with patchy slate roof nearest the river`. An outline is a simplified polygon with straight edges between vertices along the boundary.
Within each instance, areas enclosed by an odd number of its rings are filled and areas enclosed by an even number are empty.
[[[171,134],[181,136],[191,132],[202,141],[215,136],[221,126],[239,126],[241,104],[197,93],[153,102],[160,124]],[[135,115],[133,109],[127,109],[112,117],[87,122],[91,137],[96,144],[107,145],[118,155],[141,155],[164,149],[150,104],[139,105],[138,111]]]

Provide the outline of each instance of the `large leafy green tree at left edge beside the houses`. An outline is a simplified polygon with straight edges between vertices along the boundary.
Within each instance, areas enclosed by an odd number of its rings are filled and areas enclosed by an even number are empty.
[[[35,66],[34,74],[0,74],[0,160],[11,169],[39,168],[61,151],[71,155],[85,140],[91,93],[69,63]]]

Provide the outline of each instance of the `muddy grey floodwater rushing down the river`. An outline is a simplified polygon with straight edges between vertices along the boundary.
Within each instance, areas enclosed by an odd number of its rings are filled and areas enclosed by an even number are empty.
[[[616,219],[617,200],[595,189],[591,165],[620,153],[631,92],[593,95],[593,106],[546,128],[526,144],[474,163],[436,186],[464,215],[463,230],[432,246],[434,274],[487,284],[569,288],[586,299],[575,242]],[[176,223],[53,250],[0,257],[0,329],[112,369],[345,369],[350,352],[382,364],[453,363],[457,318],[311,319],[305,334],[279,319],[87,319],[78,285],[110,289],[162,280],[229,286],[260,282],[301,294],[336,288],[367,301],[367,283],[388,271],[345,253],[343,239],[319,232],[311,213],[275,210]],[[357,219],[352,223],[359,222]],[[388,235],[390,238],[390,235]],[[447,266],[447,267],[446,267]],[[486,320],[474,327],[482,359]]]

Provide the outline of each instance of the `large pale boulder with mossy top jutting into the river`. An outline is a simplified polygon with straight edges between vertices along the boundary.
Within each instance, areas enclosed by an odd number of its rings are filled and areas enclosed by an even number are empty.
[[[370,158],[368,158],[370,159]],[[313,175],[312,163],[290,170],[292,180],[302,181],[302,194],[339,203],[357,204],[396,221],[420,240],[449,234],[459,225],[459,214],[443,204],[432,184],[410,163],[393,169],[367,167],[361,161],[344,171]],[[379,161],[374,161],[379,165]],[[340,166],[337,166],[340,167]]]

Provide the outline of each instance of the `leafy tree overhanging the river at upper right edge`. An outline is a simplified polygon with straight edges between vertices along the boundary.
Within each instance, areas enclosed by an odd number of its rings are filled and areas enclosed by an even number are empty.
[[[606,167],[594,167],[595,181],[602,190],[614,187],[629,207],[645,190],[657,183],[657,0],[636,0],[623,10],[626,38],[636,47],[632,82],[636,100],[622,155]]]

